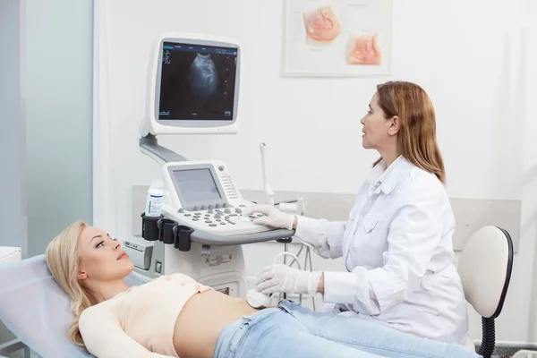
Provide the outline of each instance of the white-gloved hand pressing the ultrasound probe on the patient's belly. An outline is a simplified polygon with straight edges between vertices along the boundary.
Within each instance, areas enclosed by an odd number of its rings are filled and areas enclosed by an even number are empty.
[[[316,294],[320,271],[304,271],[279,264],[263,268],[255,289],[262,294],[285,292],[288,294]]]

